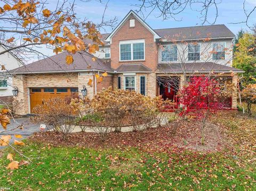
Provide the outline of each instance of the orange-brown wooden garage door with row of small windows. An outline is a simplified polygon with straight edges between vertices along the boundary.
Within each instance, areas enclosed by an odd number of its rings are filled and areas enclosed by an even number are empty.
[[[30,88],[30,112],[37,105],[43,104],[43,99],[52,97],[75,98],[78,97],[78,88]]]

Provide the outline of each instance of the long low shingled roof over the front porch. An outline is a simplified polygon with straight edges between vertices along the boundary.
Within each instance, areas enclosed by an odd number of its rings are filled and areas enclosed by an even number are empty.
[[[184,69],[182,69],[185,67]],[[156,72],[167,72],[167,73],[182,73],[183,71],[186,72],[218,72],[218,73],[230,73],[230,72],[237,72],[242,73],[243,70],[228,67],[226,65],[217,64],[214,62],[193,62],[193,63],[159,63],[157,65]]]

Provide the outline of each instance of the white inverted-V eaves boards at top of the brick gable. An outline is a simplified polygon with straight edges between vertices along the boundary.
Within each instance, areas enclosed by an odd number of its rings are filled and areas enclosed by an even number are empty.
[[[116,34],[116,32],[123,27],[123,25],[126,22],[129,22],[130,19],[135,19],[135,24],[136,22],[140,22],[149,32],[151,32],[151,34],[153,34],[154,36],[154,41],[156,41],[156,39],[161,38],[153,29],[151,29],[151,27],[145,22],[143,21],[139,15],[137,15],[134,11],[130,11],[125,18],[118,24],[118,26],[113,30],[113,32],[111,32],[111,34],[107,37],[107,39],[105,41],[110,42],[110,44],[112,43],[111,39],[112,37]]]

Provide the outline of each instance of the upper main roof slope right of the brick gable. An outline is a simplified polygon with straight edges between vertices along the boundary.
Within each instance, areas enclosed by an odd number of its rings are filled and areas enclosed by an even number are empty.
[[[181,27],[170,29],[155,29],[162,39],[185,40],[204,38],[234,38],[235,35],[225,24],[215,24],[210,26]]]

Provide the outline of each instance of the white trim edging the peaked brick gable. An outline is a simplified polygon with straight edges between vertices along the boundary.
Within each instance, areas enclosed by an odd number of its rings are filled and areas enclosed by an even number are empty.
[[[123,24],[125,23],[125,21],[127,19],[129,19],[130,15],[133,15],[135,19],[137,19],[138,21],[141,22],[141,24],[143,24],[144,27],[146,27],[153,35],[154,35],[154,41],[157,38],[161,38],[156,31],[154,31],[143,19],[140,18],[140,16],[138,14],[136,14],[134,11],[130,10],[130,12],[128,14],[126,14],[126,16],[124,17],[124,19],[118,24],[118,26],[109,34],[109,36],[107,37],[106,41],[110,42],[111,44],[111,38],[113,35],[115,35],[116,31],[118,31],[119,28],[121,28],[123,26]]]

